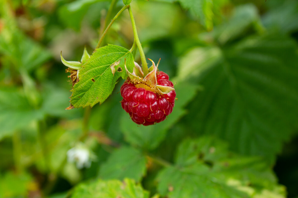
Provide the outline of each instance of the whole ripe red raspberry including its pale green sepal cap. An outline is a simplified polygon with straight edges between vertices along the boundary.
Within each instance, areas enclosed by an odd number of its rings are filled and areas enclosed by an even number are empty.
[[[150,59],[149,59],[150,60]],[[154,62],[152,71],[144,78],[128,73],[128,79],[120,88],[122,108],[132,121],[144,126],[159,123],[172,113],[176,92],[169,76],[157,71]],[[140,68],[139,73],[142,74]]]

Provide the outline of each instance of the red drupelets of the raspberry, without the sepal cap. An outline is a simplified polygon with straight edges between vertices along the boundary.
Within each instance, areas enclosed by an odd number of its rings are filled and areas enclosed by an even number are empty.
[[[156,79],[158,85],[174,86],[164,72],[156,72]],[[159,95],[150,88],[136,88],[129,78],[121,86],[120,93],[122,108],[129,113],[132,121],[144,126],[164,121],[172,113],[176,97],[175,90]]]

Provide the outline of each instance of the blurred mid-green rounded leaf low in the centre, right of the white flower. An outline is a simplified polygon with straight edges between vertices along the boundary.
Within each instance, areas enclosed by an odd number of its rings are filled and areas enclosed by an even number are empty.
[[[114,151],[108,161],[100,167],[100,178],[131,178],[140,181],[146,172],[146,157],[132,147],[122,147]]]

